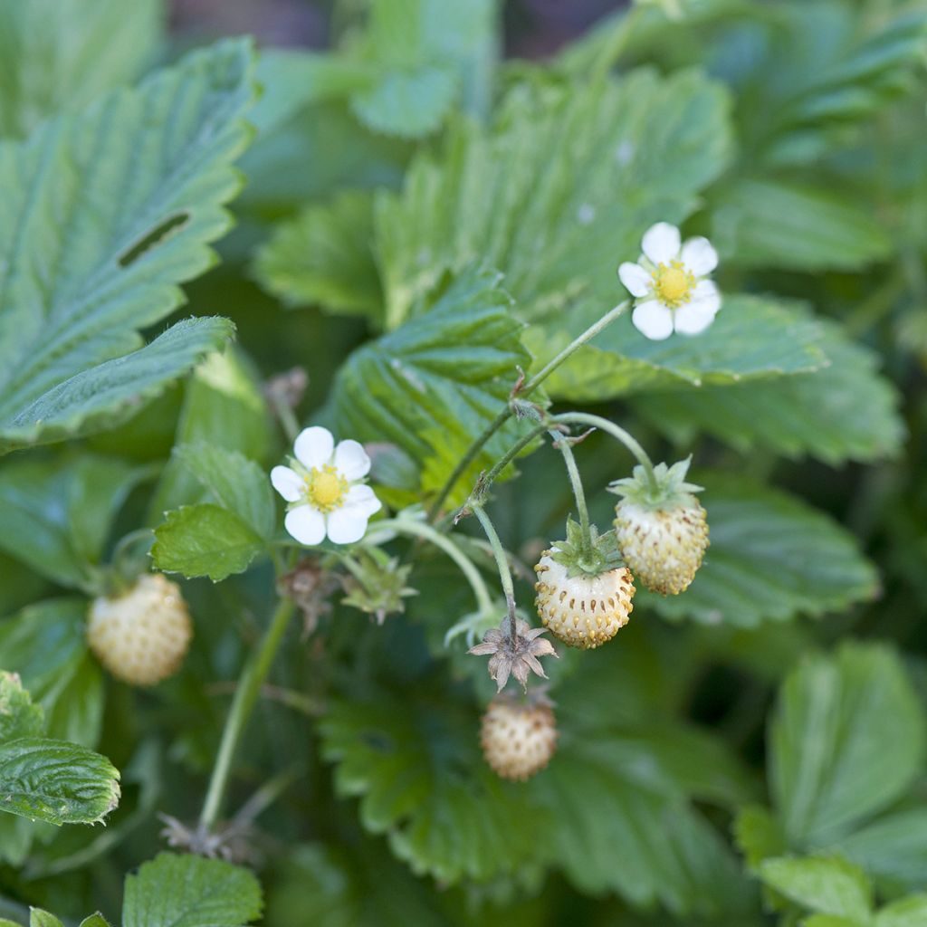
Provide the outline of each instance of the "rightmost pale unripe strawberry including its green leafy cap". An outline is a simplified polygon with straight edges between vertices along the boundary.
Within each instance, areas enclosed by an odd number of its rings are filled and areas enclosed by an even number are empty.
[[[705,509],[693,495],[700,487],[684,482],[689,461],[654,467],[657,489],[643,469],[613,484],[624,498],[615,508],[618,548],[634,576],[664,595],[688,588],[708,547]]]

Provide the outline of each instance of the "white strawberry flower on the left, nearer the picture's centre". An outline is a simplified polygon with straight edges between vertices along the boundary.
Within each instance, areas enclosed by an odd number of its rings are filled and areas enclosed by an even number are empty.
[[[275,466],[271,482],[289,502],[284,525],[300,544],[321,544],[325,536],[336,544],[361,540],[380,502],[363,478],[370,458],[358,441],[340,441],[327,428],[301,431],[290,466]]]

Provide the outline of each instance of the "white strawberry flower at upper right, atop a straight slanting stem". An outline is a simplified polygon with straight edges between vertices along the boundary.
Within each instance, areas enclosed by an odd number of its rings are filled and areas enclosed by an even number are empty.
[[[662,341],[674,331],[698,335],[721,308],[721,294],[708,275],[717,267],[717,251],[707,238],[683,243],[679,229],[657,222],[643,236],[640,259],[626,261],[618,277],[635,298],[631,322],[642,335]]]

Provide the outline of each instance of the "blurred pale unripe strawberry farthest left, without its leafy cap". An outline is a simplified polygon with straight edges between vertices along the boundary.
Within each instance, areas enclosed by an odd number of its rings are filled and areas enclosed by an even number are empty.
[[[90,649],[113,676],[134,686],[172,676],[192,637],[180,587],[160,573],[143,574],[129,591],[90,605]]]

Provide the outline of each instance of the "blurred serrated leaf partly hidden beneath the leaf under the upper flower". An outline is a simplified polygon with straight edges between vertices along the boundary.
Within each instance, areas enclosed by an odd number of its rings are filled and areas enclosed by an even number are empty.
[[[895,454],[905,425],[895,387],[877,373],[878,356],[838,325],[818,324],[828,364],[814,373],[644,394],[634,407],[683,445],[704,431],[739,451],[809,453],[828,464]]]

